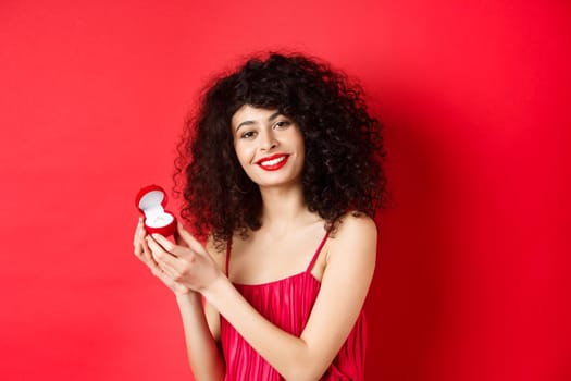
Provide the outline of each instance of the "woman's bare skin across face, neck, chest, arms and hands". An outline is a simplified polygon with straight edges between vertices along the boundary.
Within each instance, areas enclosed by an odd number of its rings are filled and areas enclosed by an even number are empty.
[[[231,131],[240,164],[260,187],[263,208],[262,228],[246,239],[238,235],[233,239],[229,278],[225,253],[216,253],[211,242],[201,245],[181,224],[173,242],[147,235],[139,220],[135,255],[176,295],[197,380],[224,378],[218,348],[220,315],[285,379],[316,380],[338,353],[363,305],[375,266],[376,226],[368,217],[345,216],[311,269],[321,290],[306,329],[297,337],[273,325],[233,282],[260,284],[303,271],[324,235],[324,221],[303,202],[305,147],[294,121],[276,110],[244,106],[234,114]],[[288,156],[280,170],[264,171],[257,164],[274,153]]]

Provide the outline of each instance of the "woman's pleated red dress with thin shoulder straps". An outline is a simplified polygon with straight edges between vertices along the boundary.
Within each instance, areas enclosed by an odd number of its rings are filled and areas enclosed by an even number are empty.
[[[274,282],[234,284],[234,286],[269,321],[284,331],[300,336],[321,286],[311,274],[311,269],[327,236],[328,233],[323,237],[306,271]],[[229,255],[231,244],[226,251],[226,273]],[[225,381],[284,380],[223,317],[221,317],[221,341],[226,361]],[[364,314],[361,311],[347,341],[321,380],[364,380],[365,346],[367,324]]]

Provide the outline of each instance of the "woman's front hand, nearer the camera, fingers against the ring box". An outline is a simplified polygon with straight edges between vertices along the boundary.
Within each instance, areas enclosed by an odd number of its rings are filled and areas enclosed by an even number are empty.
[[[151,259],[163,274],[177,284],[202,292],[223,275],[207,249],[181,223],[176,244],[160,234],[145,238]]]

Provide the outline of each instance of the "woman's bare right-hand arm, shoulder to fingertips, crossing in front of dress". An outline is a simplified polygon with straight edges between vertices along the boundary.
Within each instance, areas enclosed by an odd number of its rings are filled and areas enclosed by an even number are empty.
[[[364,303],[376,257],[374,222],[347,216],[330,241],[319,296],[306,329],[297,337],[263,318],[222,272],[212,271],[208,265],[211,258],[203,248],[190,244],[190,250],[185,251],[163,237],[156,238],[173,254],[150,242],[166,273],[202,293],[268,362],[284,378],[296,381],[319,379],[335,358]]]

